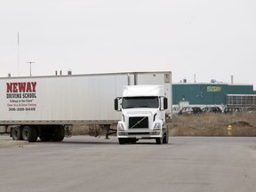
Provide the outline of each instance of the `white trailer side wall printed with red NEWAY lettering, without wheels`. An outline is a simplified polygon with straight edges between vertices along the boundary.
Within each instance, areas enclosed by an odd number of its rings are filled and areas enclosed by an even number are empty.
[[[118,74],[2,78],[0,122],[117,121],[113,99],[127,83]]]

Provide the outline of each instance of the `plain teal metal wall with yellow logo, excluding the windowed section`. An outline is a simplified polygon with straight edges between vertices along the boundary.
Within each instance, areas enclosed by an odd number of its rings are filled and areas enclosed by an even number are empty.
[[[255,94],[247,84],[172,84],[172,104],[181,100],[190,105],[226,105],[227,94]]]

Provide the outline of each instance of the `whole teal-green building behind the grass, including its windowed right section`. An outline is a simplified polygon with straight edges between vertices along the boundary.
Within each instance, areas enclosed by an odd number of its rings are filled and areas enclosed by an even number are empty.
[[[172,105],[256,107],[256,92],[252,84],[172,84]]]

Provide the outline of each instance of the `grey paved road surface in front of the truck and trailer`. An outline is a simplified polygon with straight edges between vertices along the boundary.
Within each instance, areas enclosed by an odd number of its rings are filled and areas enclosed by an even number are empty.
[[[168,145],[120,146],[115,137],[77,136],[19,144],[0,148],[0,190],[255,192],[256,138],[173,137]]]

